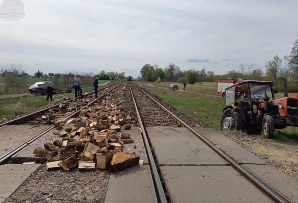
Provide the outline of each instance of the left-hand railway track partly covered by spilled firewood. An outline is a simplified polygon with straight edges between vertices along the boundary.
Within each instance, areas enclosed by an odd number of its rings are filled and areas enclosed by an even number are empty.
[[[104,88],[99,89],[98,91],[100,92],[100,94],[99,94],[98,98],[92,98],[92,99],[90,98],[90,100],[89,100],[89,102],[87,104],[84,104],[83,106],[79,105],[79,108],[76,108],[75,110],[70,111],[71,114],[69,116],[67,116],[67,117],[64,117],[64,119],[62,120],[62,122],[66,121],[66,120],[68,120],[70,118],[73,118],[81,110],[86,109],[89,106],[92,106],[96,101],[98,101],[99,99],[101,99],[104,96],[106,96],[106,94],[108,94],[109,92],[111,92],[112,90],[114,90],[115,88],[117,88],[121,84],[123,84],[123,82],[118,82],[118,83],[115,83],[115,84],[112,84],[112,85],[109,85],[107,87],[104,87]],[[87,96],[89,96],[89,95],[91,95],[93,93],[94,93],[94,91],[89,92],[89,93],[86,93],[83,96],[76,97],[76,98],[73,98],[73,99],[68,100],[68,101],[63,101],[60,104],[56,104],[54,106],[51,106],[51,107],[42,109],[42,110],[40,110],[38,112],[34,112],[34,113],[31,113],[31,114],[22,116],[20,118],[16,118],[14,120],[8,121],[6,123],[2,123],[0,125],[0,128],[1,127],[4,127],[5,125],[16,125],[16,124],[20,124],[20,123],[26,123],[26,121],[29,121],[29,120],[31,121],[32,119],[39,119],[39,121],[40,121],[40,118],[37,118],[37,117],[40,116],[41,114],[45,114],[48,110],[50,110],[52,108],[59,107],[59,105],[65,104],[65,103],[70,102],[70,101],[73,101],[73,100],[78,101],[79,99],[84,98],[84,97],[87,97]],[[62,112],[56,112],[55,117],[57,118],[57,117],[59,117],[59,116],[61,116],[63,114],[64,113],[62,113]],[[32,124],[32,121],[30,122],[30,124]],[[50,132],[54,128],[54,125],[52,125],[52,124],[46,124],[46,123],[41,123],[41,124],[48,125],[49,127],[47,127],[46,129],[44,129],[43,131],[41,131],[39,134],[36,134],[35,136],[33,136],[32,138],[30,138],[29,140],[25,141],[24,143],[16,146],[14,149],[12,149],[12,150],[8,151],[7,153],[5,153],[4,155],[2,155],[0,157],[0,165],[6,163],[12,156],[14,156],[18,152],[20,152],[21,150],[23,150],[24,148],[26,148],[28,145],[32,144],[33,142],[35,142],[36,140],[38,140],[39,138],[41,138],[42,136],[44,136],[46,133]]]

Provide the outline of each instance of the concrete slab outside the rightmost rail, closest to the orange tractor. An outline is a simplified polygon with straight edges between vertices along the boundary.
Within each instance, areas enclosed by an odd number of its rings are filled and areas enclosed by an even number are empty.
[[[267,162],[263,161],[260,157],[248,151],[247,149],[241,147],[233,140],[230,140],[225,135],[220,134],[214,129],[209,128],[193,128],[198,133],[202,134],[208,140],[217,145],[219,149],[226,154],[228,154],[231,158],[234,159],[239,164],[267,164]]]

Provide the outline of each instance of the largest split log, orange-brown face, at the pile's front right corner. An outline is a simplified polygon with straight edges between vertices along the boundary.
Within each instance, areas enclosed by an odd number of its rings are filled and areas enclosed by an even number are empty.
[[[123,171],[126,168],[133,167],[138,165],[140,160],[140,156],[135,153],[127,153],[127,152],[117,152],[113,155],[110,171],[117,172]]]

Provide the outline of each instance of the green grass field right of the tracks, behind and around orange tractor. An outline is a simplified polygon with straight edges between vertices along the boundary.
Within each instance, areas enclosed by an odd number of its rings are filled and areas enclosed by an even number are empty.
[[[159,96],[169,105],[196,119],[198,122],[203,123],[206,127],[220,131],[219,123],[224,107],[223,98],[196,95],[181,91],[168,91],[147,85],[142,85],[142,87]],[[283,93],[278,93],[276,97],[283,97]],[[298,128],[287,127],[282,130],[276,130],[274,139],[298,142]]]

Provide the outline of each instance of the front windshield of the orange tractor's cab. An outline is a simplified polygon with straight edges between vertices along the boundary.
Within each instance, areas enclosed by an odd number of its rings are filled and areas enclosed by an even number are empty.
[[[252,101],[263,101],[265,97],[269,97],[269,101],[273,100],[272,89],[270,85],[249,84]]]

